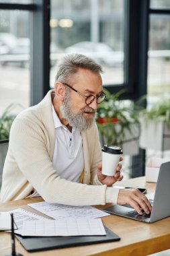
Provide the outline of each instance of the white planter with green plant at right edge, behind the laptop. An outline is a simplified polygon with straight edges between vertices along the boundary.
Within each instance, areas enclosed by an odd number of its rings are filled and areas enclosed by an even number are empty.
[[[150,109],[140,110],[140,148],[170,150],[170,97],[162,97]]]

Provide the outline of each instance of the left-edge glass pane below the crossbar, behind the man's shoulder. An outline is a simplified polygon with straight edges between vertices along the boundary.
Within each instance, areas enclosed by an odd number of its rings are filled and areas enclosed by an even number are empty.
[[[1,113],[14,102],[30,106],[29,24],[28,11],[0,10]]]

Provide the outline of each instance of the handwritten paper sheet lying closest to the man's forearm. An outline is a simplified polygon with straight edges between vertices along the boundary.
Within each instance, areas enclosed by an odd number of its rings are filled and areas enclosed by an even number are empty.
[[[76,218],[76,219],[94,219],[108,216],[110,214],[96,209],[92,206],[71,206],[58,203],[29,203],[30,207],[50,216],[54,219]]]

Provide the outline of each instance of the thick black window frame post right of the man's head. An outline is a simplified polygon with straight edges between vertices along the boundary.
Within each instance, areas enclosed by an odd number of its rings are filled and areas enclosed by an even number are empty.
[[[148,0],[126,0],[124,8],[124,83],[103,86],[111,93],[124,89],[120,99],[136,100],[146,94]]]

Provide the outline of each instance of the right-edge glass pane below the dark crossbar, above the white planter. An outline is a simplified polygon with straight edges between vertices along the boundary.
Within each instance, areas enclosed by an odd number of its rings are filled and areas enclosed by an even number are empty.
[[[170,92],[170,13],[151,14],[148,44],[148,96],[151,100]]]

